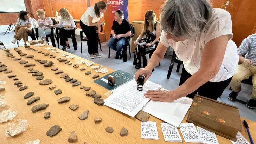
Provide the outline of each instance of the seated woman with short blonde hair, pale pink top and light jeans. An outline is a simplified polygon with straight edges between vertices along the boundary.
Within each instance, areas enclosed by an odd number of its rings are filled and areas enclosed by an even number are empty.
[[[46,41],[46,35],[51,34],[51,28],[56,27],[56,25],[53,25],[50,17],[45,17],[45,12],[43,9],[38,9],[36,13],[39,17],[37,20],[39,38],[43,40],[45,44],[49,45],[49,42]]]

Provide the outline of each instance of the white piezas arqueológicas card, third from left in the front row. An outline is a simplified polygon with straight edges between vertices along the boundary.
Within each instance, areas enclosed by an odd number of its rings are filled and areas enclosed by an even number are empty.
[[[185,142],[203,143],[193,123],[181,123],[180,131]]]

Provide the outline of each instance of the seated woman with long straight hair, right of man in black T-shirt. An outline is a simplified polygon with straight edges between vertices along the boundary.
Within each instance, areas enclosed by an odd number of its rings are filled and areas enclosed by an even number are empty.
[[[162,30],[160,23],[157,21],[154,11],[148,10],[145,14],[144,26],[142,28],[142,31],[137,40],[134,41],[136,48],[133,65],[136,65],[136,69],[141,68],[141,54],[143,52],[145,53],[145,55],[143,55],[143,67],[147,66],[147,61],[149,61],[149,53],[153,53],[155,48],[154,44],[158,42],[161,31]],[[146,39],[144,40],[144,42],[146,43],[143,45],[138,45],[138,41],[143,37],[144,34],[146,35]]]

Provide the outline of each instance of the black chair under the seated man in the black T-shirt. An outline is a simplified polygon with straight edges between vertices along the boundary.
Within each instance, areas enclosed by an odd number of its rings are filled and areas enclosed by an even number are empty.
[[[132,32],[132,35],[129,36],[129,37],[126,37],[126,40],[125,40],[125,45],[123,45],[123,62],[126,62],[127,61],[127,47],[129,48],[129,53],[130,53],[130,57],[132,57],[131,55],[131,47],[130,47],[130,42],[129,40],[131,39],[131,37],[134,36],[135,34],[135,31],[134,31],[134,26],[132,24],[130,24],[130,27],[131,27],[131,32]],[[112,34],[110,34],[109,38],[112,37]],[[109,47],[109,50],[108,50],[108,58],[110,58],[110,47]]]

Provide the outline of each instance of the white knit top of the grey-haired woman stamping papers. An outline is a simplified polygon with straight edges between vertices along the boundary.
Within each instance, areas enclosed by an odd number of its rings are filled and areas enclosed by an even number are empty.
[[[201,35],[186,39],[185,41],[174,42],[172,39],[166,39],[166,34],[162,32],[160,42],[164,46],[171,46],[177,57],[183,61],[185,70],[193,75],[200,68],[200,61],[203,54],[204,46],[210,40],[220,37],[222,35],[228,35],[228,45],[222,65],[216,76],[211,79],[211,82],[224,81],[233,76],[238,64],[238,53],[235,42],[231,40],[232,33],[232,21],[229,12],[220,8],[213,8],[214,14],[211,20],[207,23]]]

